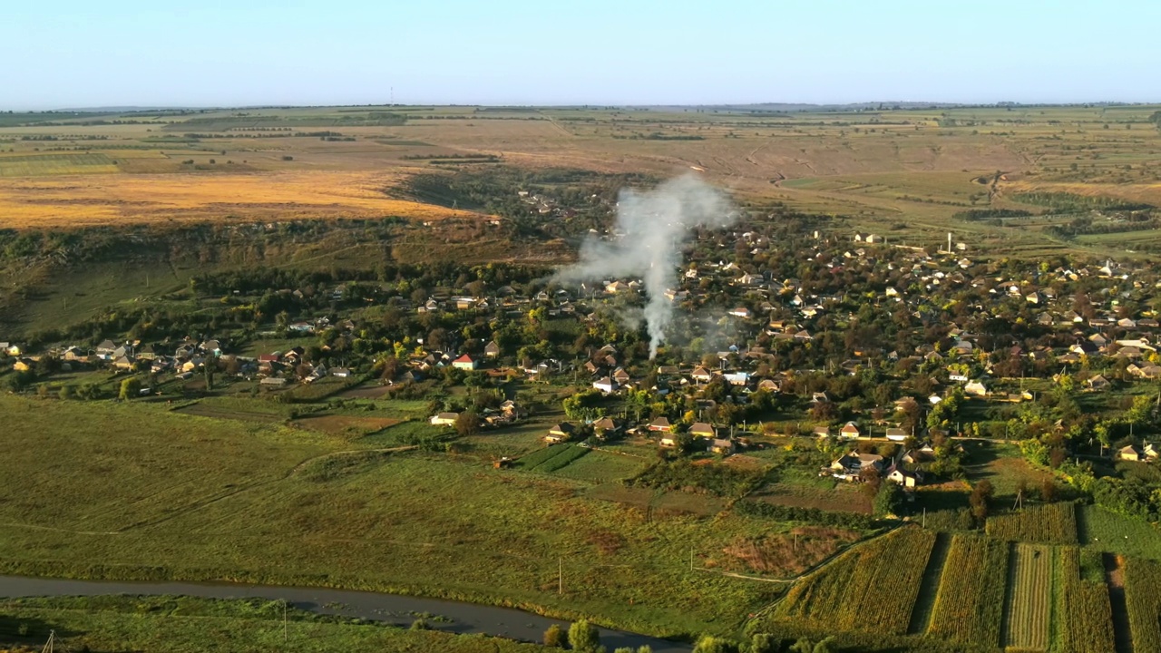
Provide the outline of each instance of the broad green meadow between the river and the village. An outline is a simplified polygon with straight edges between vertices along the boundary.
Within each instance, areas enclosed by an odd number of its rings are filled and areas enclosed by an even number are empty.
[[[46,414],[0,397],[0,411],[22,425],[0,433],[0,474],[20,479],[0,487],[6,573],[416,593],[657,634],[733,632],[779,591],[690,571],[691,546],[769,528],[740,516],[707,528],[701,514],[650,515],[575,481],[417,452],[315,473],[308,460],[352,444],[140,404]]]

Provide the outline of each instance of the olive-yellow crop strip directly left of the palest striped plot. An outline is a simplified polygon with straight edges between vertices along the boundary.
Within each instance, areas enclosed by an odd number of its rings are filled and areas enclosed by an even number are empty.
[[[931,634],[962,644],[1000,645],[1008,545],[956,536],[931,616]]]

